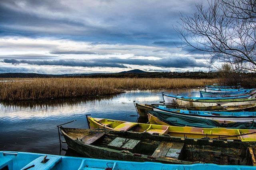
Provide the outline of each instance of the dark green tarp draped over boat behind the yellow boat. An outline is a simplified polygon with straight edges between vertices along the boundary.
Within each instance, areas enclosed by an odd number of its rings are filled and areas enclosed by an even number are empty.
[[[202,119],[198,117],[187,117],[184,115],[176,115],[173,113],[166,113],[160,111],[148,111],[148,113],[154,115],[161,121],[171,125],[179,127],[200,127],[200,128],[237,128],[237,129],[256,129],[256,123],[253,122],[235,122],[235,123],[218,123],[217,121],[210,119]]]

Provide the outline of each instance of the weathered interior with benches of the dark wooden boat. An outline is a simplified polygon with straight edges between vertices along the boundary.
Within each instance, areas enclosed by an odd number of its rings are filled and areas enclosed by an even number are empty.
[[[254,147],[225,147],[195,145],[173,140],[146,139],[143,134],[122,133],[109,130],[90,130],[62,128],[69,138],[83,144],[90,144],[133,154],[134,156],[150,156],[150,158],[176,159],[188,162],[204,162],[230,165],[252,165],[254,162]],[[170,138],[171,139],[171,138]],[[182,141],[182,140],[180,140]],[[244,146],[246,147],[246,146]],[[110,150],[111,152],[112,150]],[[256,150],[255,150],[256,151]]]

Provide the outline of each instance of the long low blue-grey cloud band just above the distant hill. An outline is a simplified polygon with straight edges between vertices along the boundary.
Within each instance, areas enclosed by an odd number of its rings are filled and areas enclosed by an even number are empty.
[[[196,62],[196,60],[188,57],[166,57],[158,60],[149,59],[120,59],[120,58],[106,58],[106,59],[91,59],[91,60],[74,60],[74,59],[59,59],[59,60],[17,60],[17,59],[4,59],[2,62],[18,65],[26,63],[30,65],[62,65],[72,67],[118,67],[128,68],[128,65],[146,65],[156,67],[207,67],[208,65],[203,62]]]

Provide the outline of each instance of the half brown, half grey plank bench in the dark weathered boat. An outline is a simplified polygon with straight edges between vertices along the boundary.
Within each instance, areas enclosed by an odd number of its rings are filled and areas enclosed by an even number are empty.
[[[183,146],[184,143],[160,142],[152,156],[179,159]]]

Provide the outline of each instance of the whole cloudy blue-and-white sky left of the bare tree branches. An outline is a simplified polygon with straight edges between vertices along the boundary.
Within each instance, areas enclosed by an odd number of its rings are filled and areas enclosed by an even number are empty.
[[[180,49],[179,14],[204,0],[1,0],[0,73],[207,70]]]

